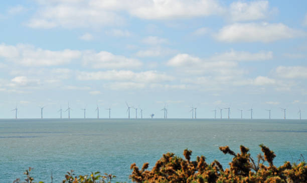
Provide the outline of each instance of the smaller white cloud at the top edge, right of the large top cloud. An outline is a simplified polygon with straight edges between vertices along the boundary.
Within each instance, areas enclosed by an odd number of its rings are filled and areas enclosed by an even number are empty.
[[[232,21],[255,21],[266,18],[268,1],[233,2],[229,7],[229,18]]]

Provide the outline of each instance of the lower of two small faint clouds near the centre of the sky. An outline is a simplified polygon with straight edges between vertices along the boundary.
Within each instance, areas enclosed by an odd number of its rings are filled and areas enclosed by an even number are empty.
[[[137,57],[159,57],[174,54],[176,51],[169,48],[155,47],[147,50],[140,50],[135,53]]]

